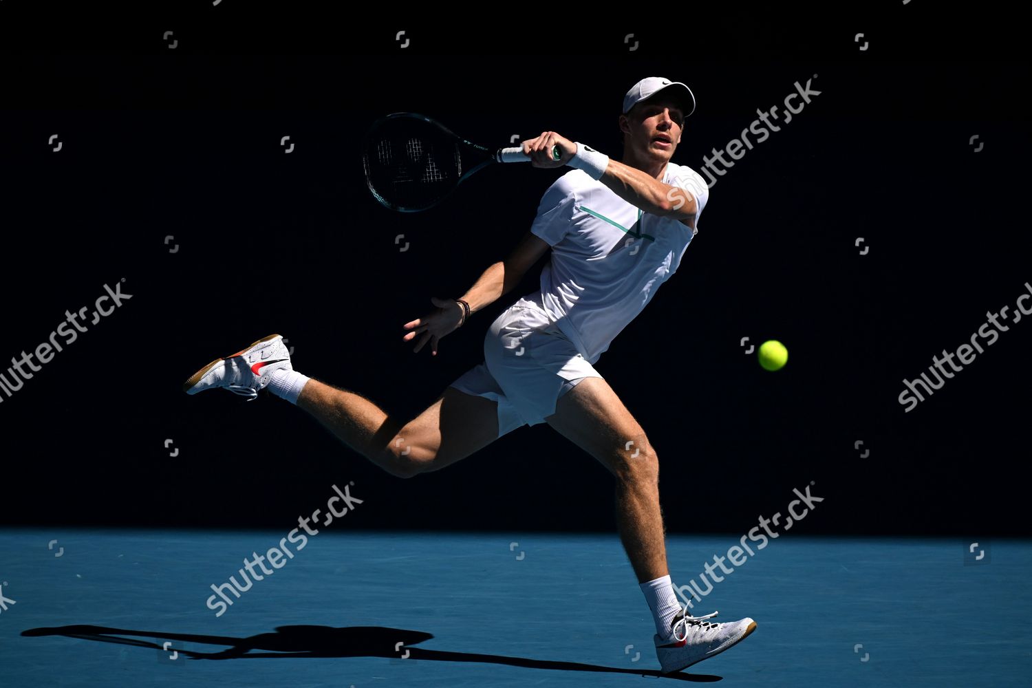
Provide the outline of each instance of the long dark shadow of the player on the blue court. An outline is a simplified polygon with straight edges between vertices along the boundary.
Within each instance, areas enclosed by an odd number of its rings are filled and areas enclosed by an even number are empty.
[[[259,633],[250,637],[231,637],[229,635],[159,633],[150,630],[127,630],[125,628],[109,628],[107,626],[71,625],[55,628],[30,628],[29,630],[22,631],[22,635],[30,637],[65,635],[86,641],[132,645],[153,650],[163,650],[164,648],[157,643],[120,636],[135,635],[165,641],[182,641],[199,645],[229,646],[228,650],[211,653],[192,652],[176,648],[176,651],[181,655],[191,659],[300,659],[304,657],[387,657],[397,659],[399,657],[399,650],[395,648],[400,642],[401,647],[406,648],[409,652],[409,659],[446,662],[482,662],[558,671],[631,674],[700,683],[712,683],[722,679],[719,676],[706,674],[678,673],[664,675],[657,670],[616,668],[613,666],[599,666],[596,664],[581,664],[578,662],[548,661],[524,657],[504,657],[502,655],[409,648],[410,645],[428,641],[433,635],[420,630],[385,628],[383,626],[350,626],[344,628],[333,628],[331,626],[277,626],[276,632],[272,633]],[[252,650],[266,650],[268,652],[252,652]]]

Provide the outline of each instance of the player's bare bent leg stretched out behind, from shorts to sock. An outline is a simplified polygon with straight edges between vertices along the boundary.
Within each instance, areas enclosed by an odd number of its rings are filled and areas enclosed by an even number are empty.
[[[345,445],[399,478],[464,459],[498,432],[497,402],[453,387],[407,423],[354,392],[317,380],[304,385],[297,405]]]

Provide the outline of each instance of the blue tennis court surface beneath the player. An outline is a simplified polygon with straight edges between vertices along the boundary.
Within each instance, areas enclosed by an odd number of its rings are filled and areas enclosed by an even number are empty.
[[[282,533],[6,530],[3,685],[618,686],[658,676],[648,608],[615,534],[320,534],[217,617],[211,586],[238,580],[241,561]],[[675,585],[698,582],[736,542],[671,536]],[[1029,685],[1032,545],[976,552],[954,539],[785,534],[694,607],[751,616],[756,632],[666,680]]]

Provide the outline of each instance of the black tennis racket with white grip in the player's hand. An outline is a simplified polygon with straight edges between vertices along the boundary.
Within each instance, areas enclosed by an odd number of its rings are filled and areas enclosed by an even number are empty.
[[[562,153],[552,146],[552,158]],[[433,207],[487,165],[530,162],[523,149],[490,151],[415,112],[381,118],[365,135],[362,166],[374,198],[399,212]]]

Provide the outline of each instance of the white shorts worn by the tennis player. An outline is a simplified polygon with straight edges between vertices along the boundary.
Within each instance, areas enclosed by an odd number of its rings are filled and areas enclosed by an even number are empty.
[[[533,298],[524,296],[491,323],[483,362],[449,385],[497,402],[499,437],[543,423],[563,393],[585,378],[602,378]]]

